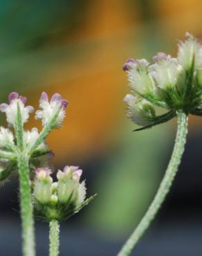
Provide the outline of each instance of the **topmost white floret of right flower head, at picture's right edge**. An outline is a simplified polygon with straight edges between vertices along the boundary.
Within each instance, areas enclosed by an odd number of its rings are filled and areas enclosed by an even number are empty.
[[[199,42],[189,33],[186,33],[185,42],[178,44],[178,62],[188,70],[194,61],[194,68],[202,67],[202,46]]]

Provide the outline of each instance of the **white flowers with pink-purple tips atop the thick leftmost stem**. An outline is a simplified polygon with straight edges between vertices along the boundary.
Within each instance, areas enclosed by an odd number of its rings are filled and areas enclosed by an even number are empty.
[[[42,93],[39,101],[41,110],[37,111],[35,116],[37,119],[42,118],[44,129],[41,133],[39,133],[37,128],[33,128],[30,131],[24,131],[23,129],[24,123],[28,121],[29,114],[34,111],[33,107],[26,106],[26,101],[26,97],[13,92],[8,96],[9,104],[0,104],[0,111],[6,113],[9,127],[0,127],[0,181],[8,178],[16,169],[18,152],[17,132],[19,129],[22,129],[21,144],[24,147],[24,153],[30,156],[31,169],[34,169],[35,166],[47,165],[48,159],[53,156],[52,152],[48,150],[45,138],[51,129],[62,125],[67,101],[62,99],[58,93],[55,93],[49,103],[47,94]]]

